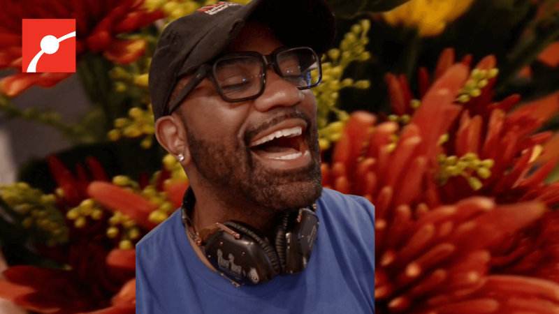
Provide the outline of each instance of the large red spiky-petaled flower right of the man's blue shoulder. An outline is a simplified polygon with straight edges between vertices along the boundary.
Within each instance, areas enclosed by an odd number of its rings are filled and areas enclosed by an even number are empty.
[[[559,308],[557,151],[532,135],[557,96],[507,114],[519,97],[492,101],[495,59],[470,61],[447,50],[432,85],[421,69],[421,101],[387,75],[391,121],[354,112],[322,165],[323,186],[375,204],[377,313]]]

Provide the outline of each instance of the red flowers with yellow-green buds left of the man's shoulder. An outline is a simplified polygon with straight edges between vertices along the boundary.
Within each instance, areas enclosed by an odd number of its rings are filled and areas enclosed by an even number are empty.
[[[38,229],[35,240],[48,242],[41,254],[62,267],[10,267],[0,279],[0,297],[38,313],[133,313],[133,247],[180,206],[188,187],[173,160],[166,156],[163,170],[136,182],[125,176],[109,181],[94,158],[87,159],[89,172],[78,165],[74,175],[50,156],[55,194],[23,182],[2,186],[6,210],[21,216],[17,223]]]

